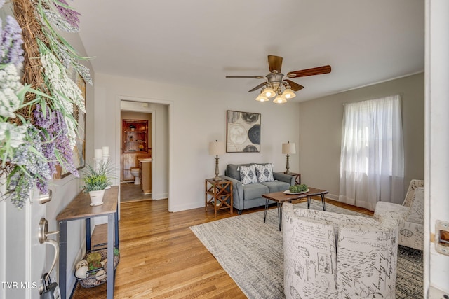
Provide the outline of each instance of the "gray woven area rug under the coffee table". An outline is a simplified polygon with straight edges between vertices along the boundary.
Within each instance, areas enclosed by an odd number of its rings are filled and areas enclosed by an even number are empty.
[[[307,207],[306,202],[298,204]],[[311,209],[323,209],[312,200]],[[366,216],[326,204],[326,211]],[[368,216],[369,217],[369,216]],[[250,299],[285,298],[283,244],[276,209],[243,214],[190,227]],[[422,252],[399,246],[396,298],[423,298]]]

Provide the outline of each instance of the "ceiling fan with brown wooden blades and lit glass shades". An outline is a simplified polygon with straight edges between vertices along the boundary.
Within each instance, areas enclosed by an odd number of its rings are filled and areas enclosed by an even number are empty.
[[[289,71],[284,77],[281,73],[282,57],[274,55],[268,55],[268,66],[269,74],[267,76],[226,76],[226,78],[266,78],[264,83],[260,83],[252,90],[248,90],[248,92],[264,87],[260,92],[260,95],[257,96],[257,101],[265,102],[268,101],[269,98],[276,96],[273,102],[285,103],[287,102],[287,99],[296,97],[295,92],[293,91],[302,90],[302,88],[304,88],[304,86],[299,85],[288,78],[328,74],[331,71],[330,65],[325,65],[323,67],[313,67],[311,69],[302,69],[300,71]]]

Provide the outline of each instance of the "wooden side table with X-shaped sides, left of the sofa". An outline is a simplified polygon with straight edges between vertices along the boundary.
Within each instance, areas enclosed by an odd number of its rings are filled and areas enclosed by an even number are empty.
[[[206,206],[204,209],[206,211],[208,206],[212,205],[215,218],[217,217],[217,211],[220,209],[230,209],[232,215],[232,181],[206,179],[205,190]],[[227,202],[228,200],[229,202]]]

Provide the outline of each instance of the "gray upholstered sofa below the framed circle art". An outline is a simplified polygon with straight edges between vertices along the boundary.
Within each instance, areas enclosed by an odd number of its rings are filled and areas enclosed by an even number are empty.
[[[244,209],[265,205],[264,193],[285,191],[295,185],[295,176],[283,172],[272,172],[274,181],[243,184],[241,182],[240,167],[250,165],[267,165],[269,163],[228,164],[222,179],[232,181],[232,197],[234,209],[239,215]]]

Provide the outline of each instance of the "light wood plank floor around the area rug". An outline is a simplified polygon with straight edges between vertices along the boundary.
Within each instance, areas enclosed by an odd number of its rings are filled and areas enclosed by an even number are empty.
[[[333,200],[330,204],[372,215],[372,211]],[[294,202],[295,203],[295,202]],[[243,211],[243,214],[263,208]],[[114,298],[246,298],[189,226],[227,218],[228,211],[204,208],[169,213],[167,200],[121,203],[121,258]],[[234,216],[237,216],[234,212]],[[104,242],[106,225],[98,225],[93,244]],[[106,298],[106,284],[76,287],[72,298]]]

